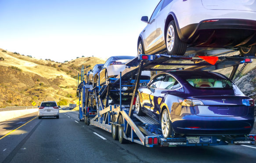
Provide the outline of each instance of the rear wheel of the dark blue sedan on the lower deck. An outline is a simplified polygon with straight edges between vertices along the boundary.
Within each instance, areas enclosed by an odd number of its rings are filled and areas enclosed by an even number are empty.
[[[161,115],[161,128],[163,137],[169,138],[171,136],[172,127],[167,109],[163,110]]]

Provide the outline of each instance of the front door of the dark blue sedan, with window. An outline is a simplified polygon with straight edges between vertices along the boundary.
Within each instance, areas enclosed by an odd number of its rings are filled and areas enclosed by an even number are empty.
[[[151,82],[148,84],[147,89],[142,90],[141,92],[141,97],[143,101],[142,110],[145,113],[152,115],[151,108],[153,106],[152,99],[154,96],[154,92],[155,92],[155,89],[159,86],[163,77],[164,77],[164,74],[159,74],[155,76],[155,78],[153,78]]]

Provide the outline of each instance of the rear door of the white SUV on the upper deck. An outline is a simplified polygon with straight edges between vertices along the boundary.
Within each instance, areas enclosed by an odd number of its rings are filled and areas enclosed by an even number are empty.
[[[170,12],[170,8],[172,6],[173,0],[164,0],[164,3],[162,4],[162,8],[159,11],[159,14],[156,15],[156,37],[158,38],[156,40],[156,45],[158,47],[165,44],[165,23],[166,18]]]

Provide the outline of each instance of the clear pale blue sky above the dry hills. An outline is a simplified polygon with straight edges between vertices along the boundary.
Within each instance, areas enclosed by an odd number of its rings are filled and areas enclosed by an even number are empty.
[[[159,0],[0,0],[0,48],[38,59],[137,55]]]

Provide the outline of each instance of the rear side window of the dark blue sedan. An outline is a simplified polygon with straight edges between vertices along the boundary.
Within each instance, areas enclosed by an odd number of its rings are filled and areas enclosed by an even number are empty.
[[[170,75],[166,75],[166,77],[162,80],[159,85],[159,89],[177,89],[181,87],[180,83]]]

